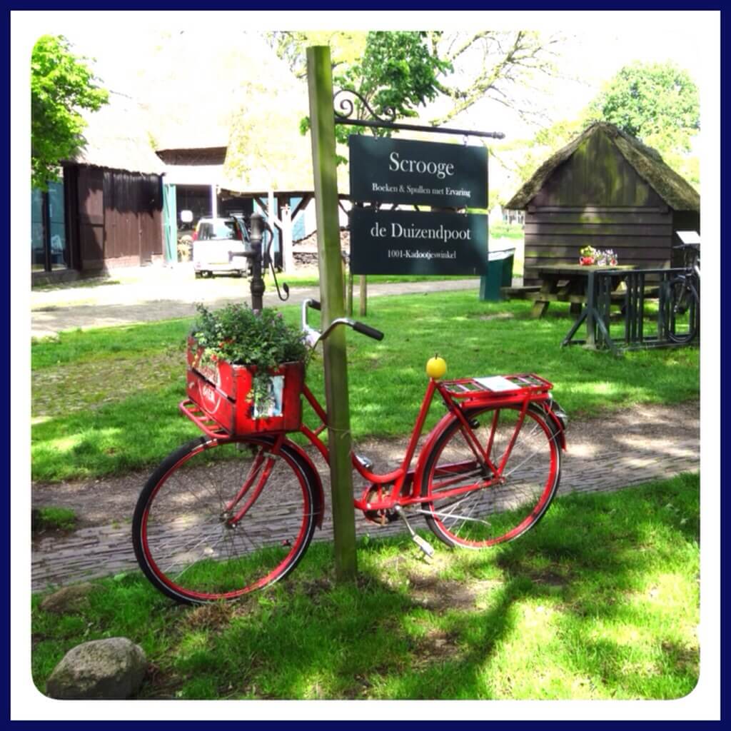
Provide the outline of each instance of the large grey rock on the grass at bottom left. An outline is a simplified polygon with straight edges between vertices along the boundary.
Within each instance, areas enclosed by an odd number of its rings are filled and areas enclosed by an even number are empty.
[[[46,682],[51,698],[120,700],[137,692],[147,670],[143,649],[126,637],[77,645]]]

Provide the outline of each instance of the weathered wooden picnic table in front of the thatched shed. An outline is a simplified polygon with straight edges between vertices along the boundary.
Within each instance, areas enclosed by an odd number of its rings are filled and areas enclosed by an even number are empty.
[[[637,265],[596,266],[583,264],[542,264],[527,267],[531,278],[541,280],[537,291],[529,292],[527,298],[534,300],[532,317],[543,317],[552,302],[569,302],[573,314],[580,314],[587,300],[589,274],[596,271],[636,269]],[[613,279],[618,287],[621,277]]]

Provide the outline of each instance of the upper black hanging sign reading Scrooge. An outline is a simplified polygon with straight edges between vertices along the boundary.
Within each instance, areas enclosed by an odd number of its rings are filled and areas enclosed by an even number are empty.
[[[350,135],[350,200],[487,208],[484,147]]]

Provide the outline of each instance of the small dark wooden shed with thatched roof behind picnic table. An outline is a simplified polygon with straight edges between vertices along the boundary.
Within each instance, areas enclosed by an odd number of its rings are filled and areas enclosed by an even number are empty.
[[[612,249],[619,264],[680,265],[678,230],[700,232],[700,196],[651,148],[599,122],[546,160],[505,208],[526,211],[530,268],[575,264],[583,246]]]

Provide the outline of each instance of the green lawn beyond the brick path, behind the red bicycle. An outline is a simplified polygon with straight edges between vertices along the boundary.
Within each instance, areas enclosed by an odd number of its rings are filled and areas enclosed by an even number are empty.
[[[299,308],[281,308],[289,322]],[[476,292],[374,298],[366,322],[381,342],[348,334],[352,433],[400,436],[423,398],[424,366],[434,352],[447,377],[533,371],[555,384],[569,416],[590,417],[631,404],[697,398],[695,347],[628,352],[614,358],[561,348],[568,306],[530,317],[526,302],[481,302]],[[197,429],[178,412],[185,398],[183,343],[190,321],[70,331],[32,346],[32,474],[64,480],[121,474],[159,463]],[[321,401],[322,360],[308,368]],[[306,409],[306,418],[308,418]],[[427,426],[443,414],[433,405]]]

